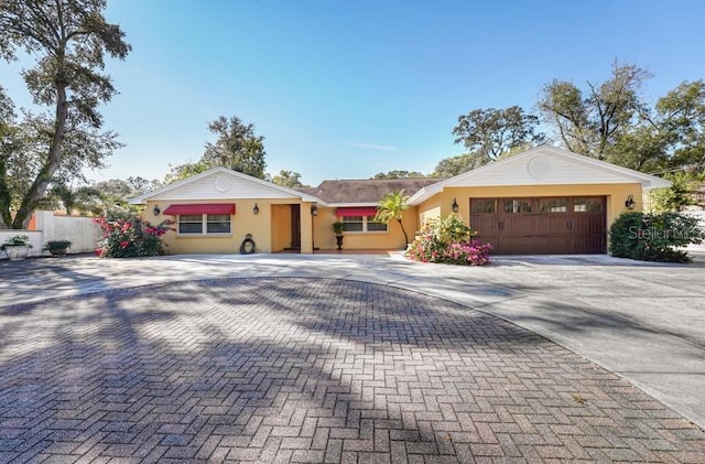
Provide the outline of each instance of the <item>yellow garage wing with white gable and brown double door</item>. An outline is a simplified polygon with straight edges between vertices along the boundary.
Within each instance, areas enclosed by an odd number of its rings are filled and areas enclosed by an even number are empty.
[[[456,214],[492,255],[606,253],[609,226],[640,212],[666,180],[541,145],[427,185],[409,198],[419,220]]]

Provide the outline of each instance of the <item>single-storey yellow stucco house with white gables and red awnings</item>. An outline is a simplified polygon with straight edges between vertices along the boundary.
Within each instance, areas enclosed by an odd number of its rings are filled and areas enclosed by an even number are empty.
[[[376,205],[404,188],[410,235],[425,218],[458,213],[494,253],[605,253],[607,230],[642,195],[668,187],[660,177],[542,145],[451,179],[324,181],[286,188],[215,168],[131,201],[142,218],[174,220],[170,253],[238,252],[250,236],[258,252],[333,250],[333,223],[345,224],[344,249],[400,249],[395,222],[373,222]],[[411,237],[410,237],[411,238]]]

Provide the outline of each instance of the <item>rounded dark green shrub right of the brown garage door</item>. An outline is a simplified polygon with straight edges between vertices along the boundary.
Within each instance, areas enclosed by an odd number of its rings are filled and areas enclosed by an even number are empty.
[[[609,252],[640,261],[691,262],[677,248],[701,244],[697,218],[679,213],[622,213],[609,229]]]

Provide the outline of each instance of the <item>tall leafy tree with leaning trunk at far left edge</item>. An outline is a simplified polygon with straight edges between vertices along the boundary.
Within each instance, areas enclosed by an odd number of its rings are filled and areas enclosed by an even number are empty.
[[[37,134],[46,148],[18,153],[13,141],[3,150],[3,157],[14,155],[25,165],[31,165],[26,157],[36,161],[30,169],[30,185],[22,192],[9,190],[7,158],[0,161],[4,162],[0,168],[0,216],[7,226],[26,227],[59,170],[65,168],[65,174],[75,174],[79,166],[100,166],[118,147],[113,133],[96,132],[102,126],[98,106],[116,94],[110,78],[100,71],[106,53],[124,60],[130,45],[123,41],[120,26],[106,21],[105,8],[105,0],[0,2],[0,55],[10,61],[23,50],[36,56],[35,66],[22,74],[34,102],[50,107],[47,114],[52,115],[36,118],[43,122]],[[74,153],[76,149],[78,153]],[[19,205],[9,222],[14,203]]]

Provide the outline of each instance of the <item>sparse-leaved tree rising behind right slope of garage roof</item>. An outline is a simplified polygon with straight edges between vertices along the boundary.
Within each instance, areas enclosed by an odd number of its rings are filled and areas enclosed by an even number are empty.
[[[585,91],[571,82],[553,79],[544,86],[538,106],[568,150],[606,160],[644,111],[639,91],[649,77],[639,66],[615,62],[611,78],[588,82]]]

